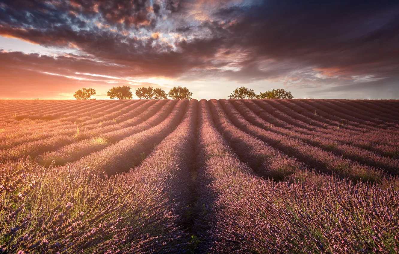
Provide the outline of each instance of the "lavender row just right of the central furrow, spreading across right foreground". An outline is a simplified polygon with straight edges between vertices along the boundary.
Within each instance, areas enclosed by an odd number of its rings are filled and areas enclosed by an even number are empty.
[[[392,203],[398,199],[396,191],[311,174],[298,175],[305,180],[295,183],[262,180],[238,160],[217,132],[206,102],[201,101],[200,106],[196,146],[199,198],[193,227],[201,241],[197,253],[338,253],[343,248],[356,253],[370,243],[393,248],[395,244],[382,242],[394,239],[399,228],[391,217],[383,213],[375,217],[364,204],[381,204],[381,211],[393,215],[399,208]],[[357,213],[346,212],[348,204],[353,204]],[[328,225],[337,221],[345,235],[330,230]],[[375,231],[364,227],[371,221],[390,225],[394,232],[384,240],[373,237]]]

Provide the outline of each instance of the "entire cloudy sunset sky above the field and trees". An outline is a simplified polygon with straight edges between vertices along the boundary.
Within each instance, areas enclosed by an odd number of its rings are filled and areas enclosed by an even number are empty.
[[[122,85],[399,99],[399,1],[0,0],[0,99]]]

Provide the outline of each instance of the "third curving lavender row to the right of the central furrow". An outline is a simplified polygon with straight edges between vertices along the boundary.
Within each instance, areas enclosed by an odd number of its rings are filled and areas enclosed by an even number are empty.
[[[210,102],[211,107],[221,108],[217,100],[210,100]],[[352,162],[332,152],[323,151],[298,139],[292,139],[257,127],[241,116],[233,105],[223,104],[223,106],[229,119],[239,129],[261,139],[288,156],[296,157],[300,162],[315,168],[317,171],[338,174],[342,178],[350,178],[355,181],[362,179],[363,181],[379,182],[384,177],[383,172],[379,169],[360,165],[358,162]]]

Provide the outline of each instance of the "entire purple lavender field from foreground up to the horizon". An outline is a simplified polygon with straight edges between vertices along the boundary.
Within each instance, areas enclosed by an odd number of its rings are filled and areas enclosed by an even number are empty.
[[[2,100],[0,254],[399,253],[397,100]]]

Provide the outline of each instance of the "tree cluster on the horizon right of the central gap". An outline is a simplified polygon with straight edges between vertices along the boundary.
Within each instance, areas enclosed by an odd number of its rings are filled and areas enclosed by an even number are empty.
[[[253,89],[244,86],[237,87],[234,92],[229,95],[229,99],[293,99],[291,92],[284,89],[273,89],[260,94],[255,94]]]

